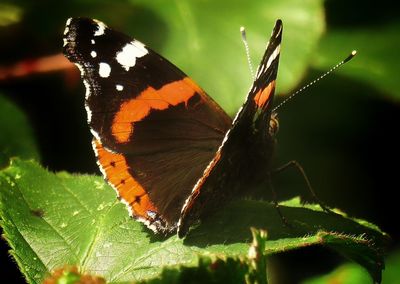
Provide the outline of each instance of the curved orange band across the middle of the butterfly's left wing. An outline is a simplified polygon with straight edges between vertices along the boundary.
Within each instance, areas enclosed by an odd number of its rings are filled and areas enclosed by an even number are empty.
[[[134,99],[122,104],[111,127],[114,138],[120,143],[128,142],[134,123],[145,118],[151,109],[164,110],[183,102],[187,104],[196,92],[203,94],[200,87],[188,77],[159,90],[148,87]]]

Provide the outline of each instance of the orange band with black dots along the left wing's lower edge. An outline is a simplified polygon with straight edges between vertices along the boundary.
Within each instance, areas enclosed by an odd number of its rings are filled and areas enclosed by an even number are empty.
[[[105,149],[99,140],[93,141],[98,161],[108,182],[126,201],[135,217],[150,219],[147,211],[157,212],[144,188],[129,173],[129,166],[123,155]]]

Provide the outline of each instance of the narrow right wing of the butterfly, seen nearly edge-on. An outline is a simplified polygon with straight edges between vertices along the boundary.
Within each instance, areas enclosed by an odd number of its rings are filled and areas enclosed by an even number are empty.
[[[269,170],[275,144],[270,120],[282,29],[282,21],[278,20],[244,105],[182,208],[180,237],[193,222],[237,194],[243,187],[242,181],[266,176]]]

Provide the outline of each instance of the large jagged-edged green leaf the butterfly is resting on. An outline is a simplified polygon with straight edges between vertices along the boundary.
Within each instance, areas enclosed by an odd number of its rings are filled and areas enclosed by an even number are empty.
[[[65,265],[122,282],[160,276],[166,267],[198,267],[199,255],[243,258],[252,240],[250,227],[268,229],[268,241],[262,244],[267,255],[323,245],[358,261],[379,279],[387,237],[375,226],[318,206],[301,206],[298,199],[282,204],[282,212],[289,227],[268,202],[232,202],[182,240],[156,236],[128,217],[100,177],[53,174],[18,159],[0,172],[1,225],[30,283],[40,283]]]

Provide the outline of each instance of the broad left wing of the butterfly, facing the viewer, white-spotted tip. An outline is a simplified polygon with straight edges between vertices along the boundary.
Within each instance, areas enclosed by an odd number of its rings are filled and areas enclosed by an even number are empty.
[[[64,54],[86,86],[103,175],[132,216],[155,232],[174,231],[231,119],[165,58],[100,21],[69,19]]]

